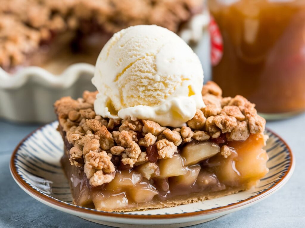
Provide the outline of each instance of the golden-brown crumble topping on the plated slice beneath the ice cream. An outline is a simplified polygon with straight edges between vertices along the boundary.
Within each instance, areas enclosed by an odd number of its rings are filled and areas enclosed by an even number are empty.
[[[197,109],[187,126],[175,129],[151,120],[102,118],[93,110],[97,92],[86,91],[77,100],[61,98],[54,106],[63,137],[73,145],[69,151],[71,165],[84,166],[90,185],[99,186],[110,182],[119,166],[132,168],[145,163],[155,172],[154,162],[173,157],[184,143],[213,140],[221,144],[221,154],[228,157],[234,149],[222,143],[244,141],[250,134],[264,132],[265,119],[246,98],[223,98],[213,82],[204,85],[202,91],[206,107]]]

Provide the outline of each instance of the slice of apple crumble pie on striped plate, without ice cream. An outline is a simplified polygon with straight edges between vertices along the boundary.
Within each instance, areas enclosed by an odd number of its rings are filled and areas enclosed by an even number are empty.
[[[187,204],[257,185],[267,172],[265,120],[242,96],[203,86],[206,107],[181,128],[96,115],[97,92],[55,103],[74,204],[132,211]]]

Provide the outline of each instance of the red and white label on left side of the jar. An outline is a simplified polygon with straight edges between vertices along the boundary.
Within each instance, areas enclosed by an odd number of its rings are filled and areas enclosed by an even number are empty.
[[[224,46],[222,36],[213,16],[210,16],[209,32],[211,39],[211,63],[216,66],[223,54]]]

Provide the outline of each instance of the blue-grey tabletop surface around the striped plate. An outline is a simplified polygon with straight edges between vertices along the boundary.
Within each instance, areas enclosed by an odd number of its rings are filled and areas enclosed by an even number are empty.
[[[91,223],[36,201],[21,190],[9,173],[10,155],[17,143],[38,126],[0,120],[0,227],[108,227]],[[296,157],[289,182],[258,204],[198,227],[305,227],[305,115],[267,123],[282,136]]]

